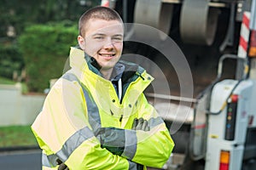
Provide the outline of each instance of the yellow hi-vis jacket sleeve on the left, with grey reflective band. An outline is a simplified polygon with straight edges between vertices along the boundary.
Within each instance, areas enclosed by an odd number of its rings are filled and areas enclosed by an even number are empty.
[[[102,149],[86,118],[86,102],[78,82],[60,79],[50,90],[32,124],[43,150],[43,169],[56,159],[75,169],[137,169],[137,163]]]

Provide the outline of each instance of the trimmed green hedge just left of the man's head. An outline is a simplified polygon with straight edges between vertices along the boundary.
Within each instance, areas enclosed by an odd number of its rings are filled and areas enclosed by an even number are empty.
[[[69,49],[77,44],[77,35],[77,26],[67,22],[26,27],[18,42],[29,91],[43,92],[49,88],[50,79],[61,77]]]

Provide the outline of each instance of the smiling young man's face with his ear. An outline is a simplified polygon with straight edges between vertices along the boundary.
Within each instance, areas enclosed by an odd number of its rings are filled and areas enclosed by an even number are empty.
[[[102,70],[112,69],[123,50],[124,28],[119,20],[90,19],[85,36],[78,37],[80,48],[96,59]]]

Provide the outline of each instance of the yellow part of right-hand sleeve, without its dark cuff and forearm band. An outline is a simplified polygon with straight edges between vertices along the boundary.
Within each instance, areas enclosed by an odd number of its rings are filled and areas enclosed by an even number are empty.
[[[137,118],[148,120],[149,131],[137,130],[137,150],[132,161],[148,167],[163,167],[172,153],[174,142],[165,122],[148,104],[144,94],[138,101]]]

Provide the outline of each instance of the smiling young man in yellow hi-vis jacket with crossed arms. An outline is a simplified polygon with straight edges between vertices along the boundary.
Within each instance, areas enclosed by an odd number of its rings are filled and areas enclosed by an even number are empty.
[[[43,169],[162,167],[174,143],[143,90],[153,77],[121,61],[123,21],[91,8],[79,20],[79,48],[32,124]]]

